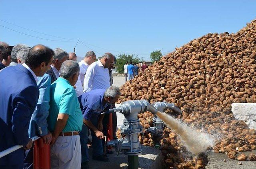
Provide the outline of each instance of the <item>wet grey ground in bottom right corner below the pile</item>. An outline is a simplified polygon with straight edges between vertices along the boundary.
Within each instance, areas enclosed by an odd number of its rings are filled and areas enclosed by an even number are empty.
[[[208,165],[205,167],[206,169],[256,169],[256,161],[249,161],[249,154],[256,153],[256,150],[251,152],[243,152],[248,158],[247,161],[238,161],[234,159],[229,159],[226,154],[223,153],[214,153],[211,152],[208,154]],[[241,153],[237,154],[240,155]],[[223,160],[226,159],[226,162]],[[241,162],[242,165],[239,165],[238,162]]]

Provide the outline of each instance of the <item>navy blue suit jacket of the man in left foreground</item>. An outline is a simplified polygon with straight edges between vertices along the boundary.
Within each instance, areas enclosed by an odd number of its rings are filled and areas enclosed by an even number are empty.
[[[28,143],[28,127],[39,90],[32,73],[22,65],[0,72],[0,151]],[[0,165],[23,164],[24,149],[0,158]]]

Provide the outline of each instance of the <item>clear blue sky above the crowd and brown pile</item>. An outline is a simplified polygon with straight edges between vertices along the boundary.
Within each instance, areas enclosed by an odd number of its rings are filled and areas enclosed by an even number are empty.
[[[94,50],[97,56],[121,52],[149,60],[156,49],[166,54],[209,32],[235,33],[255,18],[255,0],[0,0],[0,41],[40,43],[71,52],[76,41],[68,39],[74,39],[84,42],[76,45],[81,57]]]

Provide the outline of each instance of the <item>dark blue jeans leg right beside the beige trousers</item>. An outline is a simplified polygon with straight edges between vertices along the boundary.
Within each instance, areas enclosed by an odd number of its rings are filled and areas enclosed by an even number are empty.
[[[85,124],[82,126],[82,130],[79,133],[80,143],[81,143],[81,155],[82,155],[82,163],[89,161],[87,140],[88,140],[88,128]]]

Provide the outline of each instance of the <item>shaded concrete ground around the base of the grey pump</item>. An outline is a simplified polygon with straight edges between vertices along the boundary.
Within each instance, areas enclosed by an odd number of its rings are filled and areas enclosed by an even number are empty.
[[[112,149],[111,151],[114,151]],[[89,148],[90,169],[128,169],[128,156],[124,153],[116,155],[108,154],[109,162],[96,161],[92,159],[92,148]],[[139,169],[161,169],[163,157],[159,149],[142,146],[142,154],[139,155]]]

